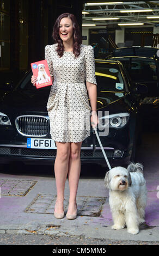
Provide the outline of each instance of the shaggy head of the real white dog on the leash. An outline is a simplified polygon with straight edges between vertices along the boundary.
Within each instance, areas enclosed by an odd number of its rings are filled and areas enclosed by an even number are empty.
[[[113,191],[124,191],[131,186],[131,176],[124,167],[115,167],[109,170],[105,176],[105,187]]]

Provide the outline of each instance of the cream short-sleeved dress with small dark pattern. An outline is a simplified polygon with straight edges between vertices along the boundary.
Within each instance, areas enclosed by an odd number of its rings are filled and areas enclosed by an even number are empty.
[[[94,50],[91,45],[81,45],[75,58],[73,52],[62,57],[57,44],[45,46],[45,59],[54,77],[47,101],[50,134],[55,142],[81,142],[90,136],[90,111],[85,80],[96,83]]]

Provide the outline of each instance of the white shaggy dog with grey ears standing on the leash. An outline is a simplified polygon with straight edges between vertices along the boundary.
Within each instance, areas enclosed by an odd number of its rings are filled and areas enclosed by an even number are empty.
[[[127,226],[131,234],[139,232],[139,224],[145,222],[146,181],[141,163],[129,164],[126,168],[115,167],[105,176],[105,187],[109,188],[109,205],[112,212],[113,229]]]

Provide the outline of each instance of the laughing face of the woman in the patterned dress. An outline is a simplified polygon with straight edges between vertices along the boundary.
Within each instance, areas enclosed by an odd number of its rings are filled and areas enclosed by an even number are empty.
[[[59,36],[63,41],[69,41],[73,36],[73,26],[70,18],[66,17],[60,20]]]

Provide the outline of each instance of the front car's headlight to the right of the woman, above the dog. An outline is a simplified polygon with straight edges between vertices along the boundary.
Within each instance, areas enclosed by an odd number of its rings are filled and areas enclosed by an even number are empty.
[[[99,118],[99,125],[102,127],[120,128],[127,124],[129,117],[129,113],[105,115],[104,117]]]

